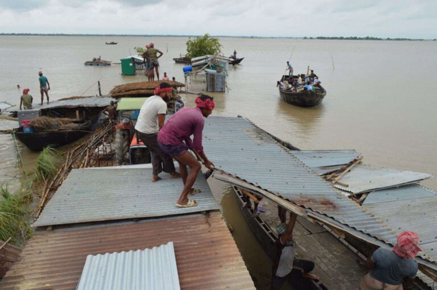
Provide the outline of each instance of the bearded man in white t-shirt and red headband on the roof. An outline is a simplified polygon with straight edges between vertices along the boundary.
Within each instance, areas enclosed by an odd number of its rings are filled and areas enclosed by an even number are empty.
[[[152,155],[153,176],[152,181],[158,181],[160,172],[169,173],[171,177],[180,177],[174,168],[173,158],[164,153],[159,147],[157,136],[159,130],[164,126],[167,113],[167,103],[171,97],[172,86],[162,82],[155,89],[155,96],[149,97],[139,111],[135,130],[137,136],[147,146]]]

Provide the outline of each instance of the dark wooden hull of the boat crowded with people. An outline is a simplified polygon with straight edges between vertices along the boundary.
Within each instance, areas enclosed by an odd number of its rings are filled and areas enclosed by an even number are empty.
[[[297,78],[298,76],[293,77]],[[284,80],[288,80],[288,75],[282,76],[281,82],[284,82]],[[326,90],[321,85],[316,87],[316,91],[291,92],[279,88],[279,95],[281,96],[281,99],[291,105],[312,107],[317,106],[322,102],[323,98],[326,96]]]

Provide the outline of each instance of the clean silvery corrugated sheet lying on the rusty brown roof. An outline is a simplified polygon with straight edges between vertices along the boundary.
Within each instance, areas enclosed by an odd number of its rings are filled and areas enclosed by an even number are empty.
[[[76,290],[180,290],[173,242],[152,249],[88,255]]]

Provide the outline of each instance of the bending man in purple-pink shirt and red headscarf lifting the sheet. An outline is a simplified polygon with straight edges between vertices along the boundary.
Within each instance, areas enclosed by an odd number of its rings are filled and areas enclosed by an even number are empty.
[[[172,156],[179,163],[179,172],[184,181],[184,190],[176,202],[176,206],[181,208],[196,206],[197,202],[188,198],[188,195],[194,195],[193,184],[201,165],[188,152],[188,149],[203,159],[205,166],[211,169],[214,164],[208,160],[203,151],[202,131],[205,125],[205,118],[211,115],[215,107],[212,97],[207,95],[198,96],[196,107],[185,107],[177,111],[163,126],[158,133],[158,144],[161,149]],[[193,140],[190,136],[194,135]],[[187,166],[190,167],[190,173],[187,173]]]

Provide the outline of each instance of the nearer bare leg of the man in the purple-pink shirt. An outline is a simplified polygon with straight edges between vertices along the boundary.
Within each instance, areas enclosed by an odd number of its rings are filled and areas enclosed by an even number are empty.
[[[179,164],[185,165],[185,168],[179,168],[182,181],[184,181],[184,190],[180,194],[177,203],[180,205],[186,205],[188,203],[188,194],[191,192],[194,181],[196,181],[197,174],[200,171],[201,165],[188,151],[181,156],[175,157]],[[190,167],[190,173],[187,174],[187,166]],[[185,172],[184,172],[185,171]]]

